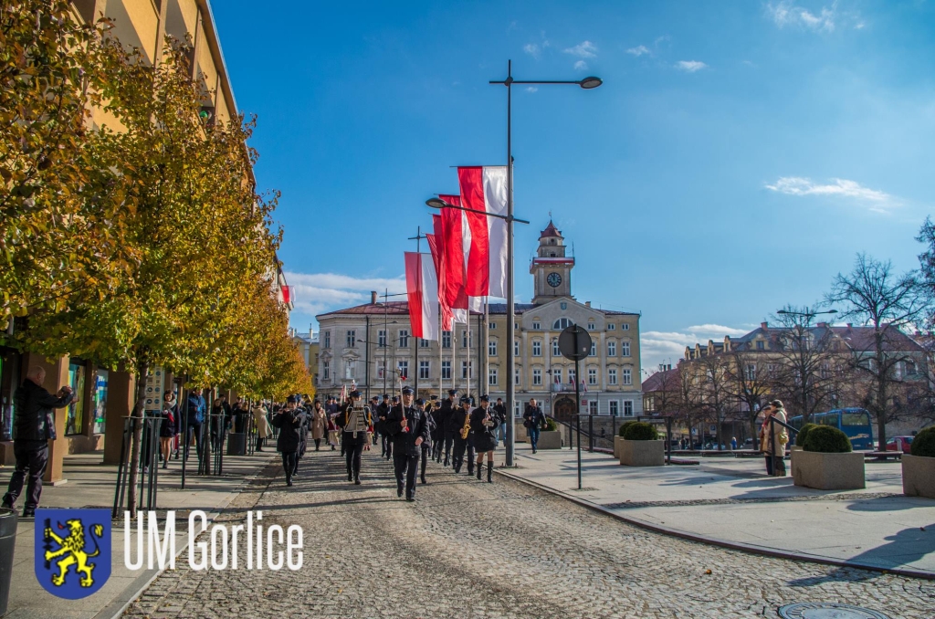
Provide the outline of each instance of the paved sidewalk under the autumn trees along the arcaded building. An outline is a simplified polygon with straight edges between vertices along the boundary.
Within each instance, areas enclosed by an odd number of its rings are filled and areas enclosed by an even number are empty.
[[[111,509],[117,467],[101,464],[100,453],[65,457],[65,479],[59,486],[42,489],[44,508],[106,508]],[[180,461],[172,460],[169,468],[160,470],[157,505],[160,512],[178,510],[176,548],[186,547],[188,512],[199,509],[209,517],[222,511],[252,482],[262,479],[261,473],[270,462],[279,462],[276,453],[254,456],[224,456],[224,473],[220,477],[198,477],[191,469],[186,476],[186,489],[180,489]],[[190,463],[193,464],[193,463]],[[12,467],[0,467],[0,487],[6,492]],[[167,473],[167,474],[166,474]],[[22,497],[17,502],[22,511]],[[92,596],[79,600],[63,600],[48,593],[35,576],[35,522],[21,519],[17,526],[14,552],[13,582],[9,607],[4,619],[85,619],[107,618],[137,597],[156,576],[155,570],[130,571],[123,558],[122,521],[114,522],[111,547],[111,575],[104,587]]]

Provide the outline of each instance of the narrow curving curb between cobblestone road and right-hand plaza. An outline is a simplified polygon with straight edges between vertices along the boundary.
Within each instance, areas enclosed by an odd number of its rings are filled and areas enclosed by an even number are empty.
[[[711,546],[719,546],[721,548],[727,548],[729,550],[740,551],[741,553],[747,554],[759,554],[762,556],[770,556],[773,558],[779,559],[788,559],[790,561],[807,561],[809,563],[817,563],[821,565],[835,566],[836,568],[851,568],[851,569],[866,569],[868,571],[880,572],[882,574],[896,574],[898,576],[908,576],[910,578],[919,578],[927,581],[935,581],[935,573],[929,571],[919,571],[915,569],[902,569],[902,568],[881,568],[880,566],[867,565],[863,563],[856,563],[854,561],[845,561],[842,559],[832,559],[829,557],[823,556],[814,556],[813,554],[798,554],[792,553],[783,550],[775,550],[772,548],[764,548],[762,546],[755,546],[752,544],[744,544],[739,541],[729,541],[729,540],[720,540],[718,538],[710,538],[702,535],[697,535],[695,533],[689,533],[687,531],[682,531],[679,529],[671,528],[669,526],[653,525],[652,523],[647,523],[642,520],[637,520],[634,518],[627,517],[616,511],[608,510],[607,508],[597,505],[597,503],[592,503],[591,501],[584,500],[583,498],[573,497],[568,495],[560,490],[555,490],[549,486],[542,485],[539,482],[531,482],[525,478],[522,478],[518,475],[514,475],[510,472],[503,470],[502,468],[494,469],[497,474],[502,475],[508,479],[513,480],[514,482],[525,483],[526,485],[537,488],[543,492],[549,493],[554,497],[561,497],[576,505],[579,505],[585,509],[591,511],[597,511],[597,513],[604,514],[605,516],[610,516],[622,522],[625,522],[627,525],[639,526],[640,528],[653,531],[654,533],[660,533],[662,535],[668,535],[673,538],[681,538],[683,540],[697,541],[698,543],[708,544]]]

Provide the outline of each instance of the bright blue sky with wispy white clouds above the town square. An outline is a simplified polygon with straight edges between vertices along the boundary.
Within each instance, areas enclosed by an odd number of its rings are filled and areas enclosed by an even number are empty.
[[[506,158],[517,294],[553,213],[573,293],[642,312],[643,367],[813,303],[856,252],[917,265],[935,195],[935,2],[215,0],[293,324],[405,289],[449,166]],[[317,329],[317,327],[316,327]]]

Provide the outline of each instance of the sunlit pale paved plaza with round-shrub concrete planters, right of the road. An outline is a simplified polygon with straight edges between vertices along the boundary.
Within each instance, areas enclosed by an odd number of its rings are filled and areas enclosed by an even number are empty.
[[[868,463],[867,488],[825,492],[764,474],[761,458],[631,468],[611,455],[517,445],[510,474],[635,522],[764,552],[935,577],[935,500],[902,495],[899,462]],[[933,606],[935,608],[935,606]]]

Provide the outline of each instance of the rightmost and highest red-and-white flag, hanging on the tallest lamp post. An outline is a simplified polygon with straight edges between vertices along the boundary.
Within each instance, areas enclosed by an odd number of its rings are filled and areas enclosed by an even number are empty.
[[[507,222],[490,215],[507,214],[507,166],[458,168],[461,201],[470,230],[467,284],[472,308],[474,297],[507,296]]]

